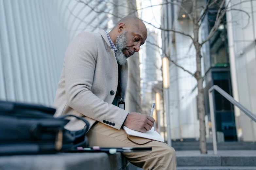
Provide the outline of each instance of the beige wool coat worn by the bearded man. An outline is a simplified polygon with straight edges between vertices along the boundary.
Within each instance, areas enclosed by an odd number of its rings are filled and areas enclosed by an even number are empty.
[[[122,98],[125,100],[128,65],[122,66]],[[69,44],[56,98],[54,116],[72,114],[83,116],[90,127],[96,122],[114,123],[109,125],[120,129],[128,115],[111,103],[118,83],[118,65],[114,50],[104,30],[98,33],[82,32]],[[111,91],[114,94],[111,95]],[[105,120],[105,121],[103,121]],[[104,123],[106,124],[106,123]],[[74,118],[66,125],[69,130],[82,129],[85,124]]]

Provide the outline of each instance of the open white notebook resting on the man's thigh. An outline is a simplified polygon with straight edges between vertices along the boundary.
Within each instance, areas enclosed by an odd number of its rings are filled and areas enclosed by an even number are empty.
[[[152,129],[147,131],[146,133],[131,130],[126,126],[123,126],[123,128],[124,128],[125,132],[127,133],[127,135],[138,136],[138,137],[143,137],[143,138],[147,138],[147,139],[164,142],[164,139],[162,138],[162,136],[159,133],[157,133],[157,131],[155,131],[154,127],[152,127]]]

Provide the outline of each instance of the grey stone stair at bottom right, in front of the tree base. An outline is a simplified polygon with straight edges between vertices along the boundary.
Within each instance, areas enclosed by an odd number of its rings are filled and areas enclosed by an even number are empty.
[[[256,170],[255,150],[177,151],[177,170]]]

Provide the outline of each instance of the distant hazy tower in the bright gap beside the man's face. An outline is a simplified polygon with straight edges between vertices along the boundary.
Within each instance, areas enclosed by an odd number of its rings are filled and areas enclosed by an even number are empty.
[[[140,50],[140,73],[141,73],[141,98],[142,98],[142,113],[149,114],[153,103],[158,103],[162,106],[162,100],[156,101],[156,93],[162,94],[162,56],[159,48],[159,40],[161,34],[158,30],[152,29],[147,31],[147,40]],[[159,123],[164,126],[162,109],[153,114],[157,122],[157,113]],[[160,128],[157,126],[157,128]],[[159,129],[160,130],[160,129]],[[163,134],[162,134],[163,135]]]

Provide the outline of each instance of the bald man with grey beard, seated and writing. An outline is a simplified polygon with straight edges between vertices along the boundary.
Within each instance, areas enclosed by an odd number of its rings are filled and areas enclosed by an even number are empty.
[[[58,84],[54,106],[55,116],[73,114],[90,122],[87,134],[91,146],[152,147],[149,152],[123,153],[128,161],[143,169],[176,169],[175,150],[167,144],[129,136],[121,128],[149,131],[154,119],[141,113],[128,113],[118,107],[125,101],[128,65],[127,58],[138,52],[145,43],[145,24],[134,16],[126,16],[108,33],[83,32],[70,43]],[[70,130],[84,127],[72,119]],[[149,143],[147,143],[149,142]],[[137,144],[135,144],[137,143]],[[138,145],[144,144],[145,145]]]

